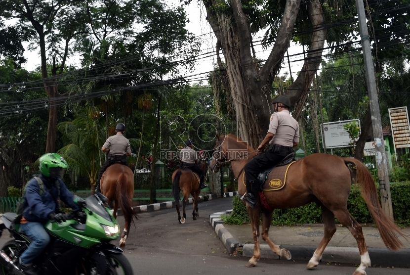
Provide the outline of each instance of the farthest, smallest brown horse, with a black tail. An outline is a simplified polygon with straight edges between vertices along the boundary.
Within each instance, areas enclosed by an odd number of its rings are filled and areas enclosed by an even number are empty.
[[[202,170],[204,170],[205,175],[206,175],[206,170],[208,169],[206,162],[201,162],[199,164],[199,167]],[[179,213],[179,201],[180,201],[179,192],[181,190],[184,193],[184,197],[182,199],[182,210],[183,210],[182,218],[181,218],[181,214]],[[178,168],[177,170],[174,171],[174,173],[172,174],[172,193],[174,194],[175,207],[176,207],[176,211],[178,212],[178,222],[180,224],[184,224],[187,218],[187,215],[185,214],[185,206],[186,206],[186,202],[188,201],[189,194],[191,194],[194,198],[194,202],[193,202],[194,212],[192,212],[192,219],[196,220],[197,217],[199,217],[198,198],[199,198],[200,192],[201,192],[200,179],[197,174],[194,175],[194,172],[192,172],[191,169]]]

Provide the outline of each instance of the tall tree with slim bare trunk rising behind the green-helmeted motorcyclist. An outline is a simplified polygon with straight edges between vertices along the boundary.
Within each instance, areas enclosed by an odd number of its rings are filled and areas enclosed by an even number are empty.
[[[76,0],[0,0],[0,6],[0,18],[18,18],[15,28],[31,42],[32,48],[40,48],[41,77],[50,99],[45,151],[54,152],[56,100],[62,94],[58,92],[56,79],[49,78],[47,65],[52,64],[50,74],[53,77],[64,71],[70,42],[86,32],[82,3]]]

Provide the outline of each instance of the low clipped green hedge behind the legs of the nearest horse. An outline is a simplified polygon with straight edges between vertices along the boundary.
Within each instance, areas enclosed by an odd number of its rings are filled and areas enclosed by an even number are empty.
[[[395,222],[401,226],[410,226],[410,182],[392,183],[390,185],[393,215]],[[360,224],[372,224],[369,209],[360,194],[358,185],[352,185],[350,196],[347,201],[350,214]],[[310,203],[298,208],[275,209],[271,224],[273,226],[294,226],[298,224],[318,224],[322,222],[322,210],[315,203]],[[245,204],[238,196],[233,199],[233,212],[223,215],[222,219],[227,224],[242,225],[250,223]],[[336,223],[338,223],[337,219]]]

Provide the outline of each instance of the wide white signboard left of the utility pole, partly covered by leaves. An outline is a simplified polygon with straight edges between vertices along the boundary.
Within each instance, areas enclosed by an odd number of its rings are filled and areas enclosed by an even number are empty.
[[[360,121],[358,119],[327,122],[321,125],[323,127],[324,133],[322,136],[322,143],[325,139],[324,145],[326,146],[326,148],[351,146],[350,142],[352,141],[350,140],[347,131],[343,129],[343,126],[352,121],[357,121],[357,125],[360,127]]]

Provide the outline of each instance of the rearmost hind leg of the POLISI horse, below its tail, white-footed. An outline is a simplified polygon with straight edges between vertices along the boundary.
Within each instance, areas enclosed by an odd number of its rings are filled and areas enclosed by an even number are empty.
[[[362,226],[350,215],[347,208],[333,211],[337,220],[350,230],[353,237],[357,241],[357,247],[360,252],[360,266],[356,269],[353,275],[366,275],[366,268],[370,266],[369,252],[366,247],[365,237],[363,236]]]

